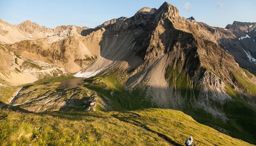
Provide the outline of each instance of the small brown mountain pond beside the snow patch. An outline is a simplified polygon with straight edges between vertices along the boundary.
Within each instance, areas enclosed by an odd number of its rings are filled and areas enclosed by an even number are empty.
[[[83,80],[86,79],[86,78],[75,78],[75,79],[68,79],[68,80],[65,80],[65,81],[61,81],[60,82],[60,89],[71,89],[71,88],[76,88],[76,87],[79,87],[80,83],[83,83]]]

